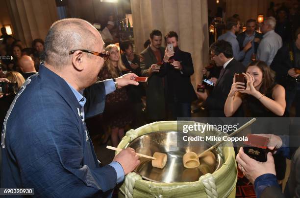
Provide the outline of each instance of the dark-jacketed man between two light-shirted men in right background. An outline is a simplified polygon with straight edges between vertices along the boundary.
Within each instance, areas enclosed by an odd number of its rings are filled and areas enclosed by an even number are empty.
[[[258,44],[263,38],[263,34],[255,31],[256,21],[254,19],[250,19],[246,22],[246,28],[246,31],[242,32],[236,37],[241,50],[243,50],[246,44],[248,44],[250,41],[252,43],[250,49],[245,53],[244,59],[241,60],[244,66],[248,66],[248,64],[251,62],[251,56],[256,54]]]

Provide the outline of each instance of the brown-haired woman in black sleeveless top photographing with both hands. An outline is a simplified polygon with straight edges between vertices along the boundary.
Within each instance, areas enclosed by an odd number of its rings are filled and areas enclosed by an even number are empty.
[[[285,90],[275,83],[274,71],[263,61],[255,61],[243,73],[247,83],[237,82],[236,75],[225,102],[226,117],[232,116],[243,105],[246,117],[283,116]]]

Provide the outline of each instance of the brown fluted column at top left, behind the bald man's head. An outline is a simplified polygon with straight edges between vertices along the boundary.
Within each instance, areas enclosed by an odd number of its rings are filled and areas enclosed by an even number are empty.
[[[36,38],[45,39],[50,25],[58,20],[55,0],[3,0],[14,29],[14,37],[31,46]]]

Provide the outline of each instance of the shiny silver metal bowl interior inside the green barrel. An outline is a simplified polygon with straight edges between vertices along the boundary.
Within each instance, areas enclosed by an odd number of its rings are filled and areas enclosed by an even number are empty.
[[[212,151],[216,156],[213,164],[208,165],[200,158],[199,167],[185,168],[182,163],[183,154],[187,152],[200,154],[211,145],[204,141],[184,141],[184,135],[186,134],[182,132],[151,132],[134,139],[128,147],[135,149],[137,153],[152,156],[154,152],[160,152],[167,154],[168,157],[163,169],[152,167],[151,160],[141,157],[140,165],[134,171],[144,179],[155,182],[192,182],[198,181],[202,175],[215,172],[222,166],[223,158],[215,149]]]

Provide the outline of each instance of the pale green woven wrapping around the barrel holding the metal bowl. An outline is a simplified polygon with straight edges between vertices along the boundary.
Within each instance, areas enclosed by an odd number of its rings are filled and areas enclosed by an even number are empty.
[[[193,125],[193,121],[180,121],[180,123]],[[177,131],[177,121],[163,121],[154,122],[144,125],[136,130],[130,130],[136,132],[137,137],[150,133],[160,131]],[[195,135],[199,135],[197,132],[191,132]],[[218,134],[216,134],[218,133]],[[128,133],[129,135],[130,133]],[[223,132],[204,132],[201,135],[224,135]],[[131,136],[131,135],[130,135]],[[122,139],[118,148],[126,148],[133,139],[126,136]],[[215,142],[208,142],[214,144]],[[235,154],[233,150],[233,144],[226,142],[222,147],[218,147],[218,151],[224,157],[224,163],[219,170],[212,174],[219,198],[235,198],[235,187],[237,181],[237,167],[235,163]],[[117,154],[118,152],[116,152]],[[136,174],[137,175],[137,174]],[[133,198],[207,198],[205,187],[202,181],[194,182],[174,182],[174,183],[158,183],[144,179],[135,180],[133,191]],[[120,188],[119,197],[125,196],[125,182]]]

